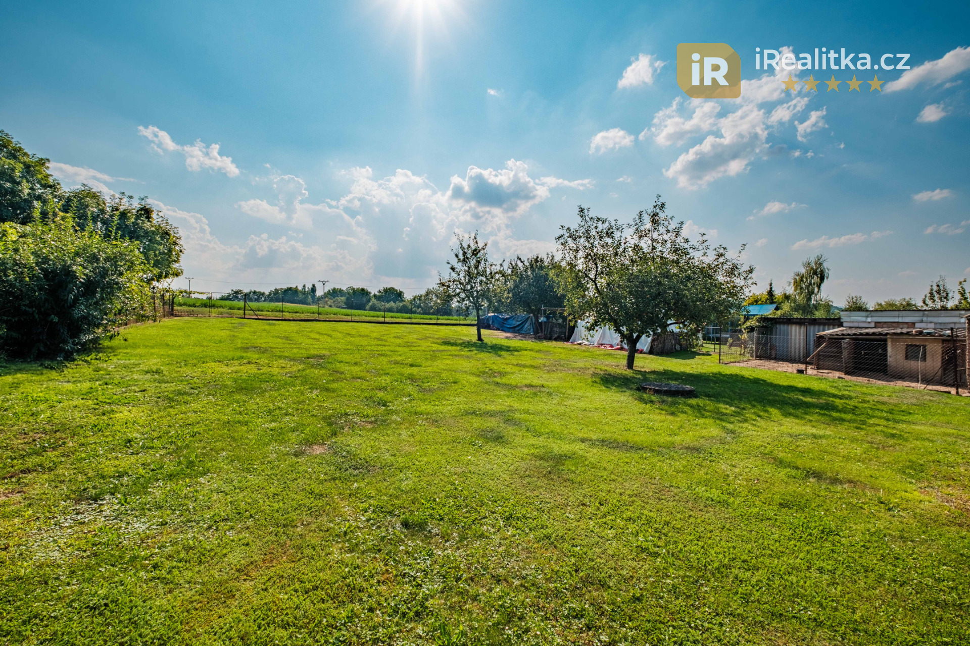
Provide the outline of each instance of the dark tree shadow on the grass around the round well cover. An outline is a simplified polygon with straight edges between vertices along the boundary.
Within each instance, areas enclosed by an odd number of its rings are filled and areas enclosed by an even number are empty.
[[[705,416],[730,422],[750,422],[778,415],[844,425],[860,430],[873,423],[900,424],[912,416],[906,407],[874,405],[860,392],[838,392],[830,384],[779,384],[757,375],[737,373],[636,370],[599,372],[593,379],[601,386],[633,392],[644,404],[662,404],[671,415]],[[693,385],[695,398],[667,397],[637,390],[644,382]]]

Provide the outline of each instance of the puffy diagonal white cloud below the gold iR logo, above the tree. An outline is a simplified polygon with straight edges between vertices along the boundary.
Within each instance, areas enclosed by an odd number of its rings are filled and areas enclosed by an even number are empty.
[[[720,120],[719,126],[723,137],[709,135],[678,157],[663,174],[676,179],[681,188],[703,188],[720,177],[744,172],[768,147],[764,112],[755,106],[731,112]]]

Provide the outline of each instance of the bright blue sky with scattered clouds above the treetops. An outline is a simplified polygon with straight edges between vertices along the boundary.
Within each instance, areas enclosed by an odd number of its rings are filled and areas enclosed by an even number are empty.
[[[0,128],[67,186],[154,200],[195,289],[414,292],[455,231],[497,259],[551,251],[577,204],[629,219],[657,194],[690,230],[747,243],[762,287],[816,253],[836,303],[955,285],[970,7],[805,6],[5,3]],[[681,42],[732,46],[741,98],[689,99]],[[906,52],[910,70],[878,71],[882,92],[783,93],[756,47]]]

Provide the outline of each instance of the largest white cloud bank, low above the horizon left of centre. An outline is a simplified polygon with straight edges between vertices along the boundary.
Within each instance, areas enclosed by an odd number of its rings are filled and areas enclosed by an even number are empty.
[[[423,289],[434,284],[456,232],[479,231],[496,260],[552,251],[551,240],[520,239],[514,231],[518,218],[553,191],[593,186],[588,179],[535,179],[516,160],[502,169],[469,167],[451,178],[447,190],[406,169],[379,177],[369,167],[353,168],[339,176],[348,188],[336,200],[311,203],[303,179],[276,174],[275,198],[238,203],[248,215],[302,230],[283,236],[264,233],[229,244],[202,215],[156,205],[182,230],[190,275],[292,283],[306,281],[308,272],[325,272],[315,277]]]

